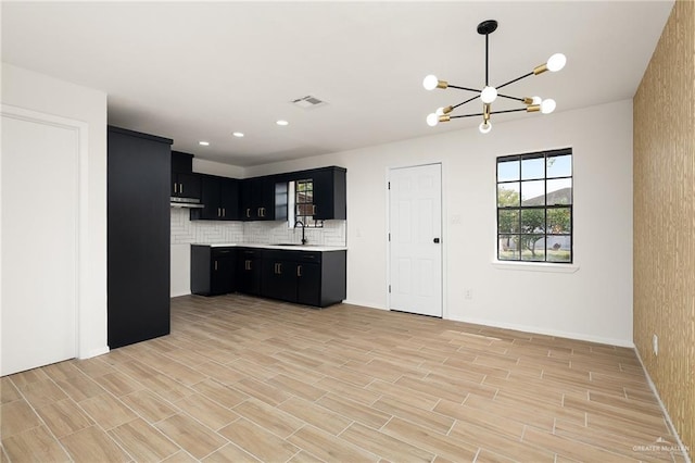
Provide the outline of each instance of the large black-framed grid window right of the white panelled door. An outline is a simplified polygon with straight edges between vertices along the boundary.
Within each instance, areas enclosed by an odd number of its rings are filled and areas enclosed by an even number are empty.
[[[497,158],[497,260],[572,263],[571,148]]]

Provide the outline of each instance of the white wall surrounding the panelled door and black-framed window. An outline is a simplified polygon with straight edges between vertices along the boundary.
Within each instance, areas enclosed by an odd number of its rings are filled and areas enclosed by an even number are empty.
[[[573,149],[577,271],[493,265],[496,157],[566,147]],[[468,127],[245,173],[346,167],[348,300],[383,309],[387,171],[431,162],[441,162],[443,174],[445,318],[632,346],[631,100],[496,121],[486,136]]]

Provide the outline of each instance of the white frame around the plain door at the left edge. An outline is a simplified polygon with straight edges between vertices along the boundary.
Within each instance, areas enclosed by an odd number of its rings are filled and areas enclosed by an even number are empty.
[[[47,114],[39,111],[27,110],[20,107],[14,107],[10,104],[0,104],[0,115],[2,117],[10,117],[17,121],[25,121],[35,124],[49,125],[53,127],[59,127],[67,130],[73,130],[77,138],[77,155],[75,158],[74,172],[75,172],[75,186],[77,193],[77,203],[71,204],[76,209],[75,211],[75,356],[78,358],[87,358],[91,356],[90,352],[80,351],[80,340],[86,333],[80,331],[81,326],[89,326],[88,314],[81,310],[83,306],[86,306],[87,298],[88,298],[88,268],[89,268],[89,260],[87,250],[89,249],[88,242],[88,217],[87,211],[89,205],[89,198],[85,193],[89,190],[88,188],[88,127],[89,125],[86,122],[76,121],[67,117],[56,116],[53,114]],[[2,168],[2,162],[0,159],[0,173]],[[0,175],[0,183],[2,176]],[[0,184],[0,188],[1,188]],[[2,211],[0,205],[0,255],[2,254]],[[2,278],[2,266],[0,265],[0,281]],[[8,270],[4,268],[7,272]],[[0,291],[2,288],[0,288]],[[7,309],[7,308],[5,308]],[[0,314],[2,313],[2,299],[0,298]],[[2,330],[0,329],[0,337],[2,336]],[[2,339],[0,338],[0,342]],[[84,350],[84,349],[83,349]]]

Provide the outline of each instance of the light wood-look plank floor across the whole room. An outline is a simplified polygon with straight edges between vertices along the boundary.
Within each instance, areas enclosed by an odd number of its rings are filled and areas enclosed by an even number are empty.
[[[2,462],[684,461],[630,349],[243,296],[3,377],[1,417]]]

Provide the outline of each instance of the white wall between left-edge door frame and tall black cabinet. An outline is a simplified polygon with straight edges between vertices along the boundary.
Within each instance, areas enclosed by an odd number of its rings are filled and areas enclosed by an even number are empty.
[[[46,198],[48,208],[74,208],[80,216],[78,355],[108,352],[106,346],[106,93],[2,63],[2,103],[81,121],[87,128],[87,163],[80,172],[80,200]],[[40,168],[40,165],[37,165]],[[27,179],[28,182],[29,179]],[[39,213],[40,214],[40,213]],[[50,233],[51,224],[38,225]],[[2,224],[26,226],[26,224]],[[50,255],[46,256],[50,259]],[[11,272],[3,268],[3,272]],[[37,290],[41,290],[37,281]]]

